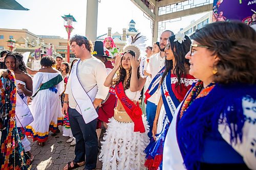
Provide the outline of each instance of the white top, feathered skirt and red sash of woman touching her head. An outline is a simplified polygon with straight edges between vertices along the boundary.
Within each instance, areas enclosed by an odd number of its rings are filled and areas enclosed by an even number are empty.
[[[120,82],[115,87],[115,93],[125,111],[115,109],[114,117],[110,119],[108,129],[103,137],[101,153],[102,169],[146,169],[143,153],[149,142],[148,125],[142,116],[138,101],[140,91],[124,91]]]

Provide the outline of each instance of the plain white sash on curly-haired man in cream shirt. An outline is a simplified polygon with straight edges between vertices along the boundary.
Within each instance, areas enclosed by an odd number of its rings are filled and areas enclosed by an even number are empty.
[[[71,70],[71,91],[72,95],[77,103],[76,105],[76,111],[78,111],[86,124],[92,122],[95,118],[98,117],[98,114],[94,108],[93,101],[95,99],[96,93],[98,91],[98,86],[95,85],[91,90],[88,92],[84,90],[82,87],[78,77],[77,77],[77,71],[78,71],[78,64],[80,63],[80,60],[78,60],[72,70]]]

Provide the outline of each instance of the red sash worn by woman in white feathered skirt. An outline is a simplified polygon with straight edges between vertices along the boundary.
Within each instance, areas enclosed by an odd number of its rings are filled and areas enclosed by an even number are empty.
[[[122,82],[116,85],[115,87],[116,95],[126,113],[134,122],[134,132],[145,132],[145,127],[142,121],[142,111],[140,109],[139,103],[135,105],[124,93]]]

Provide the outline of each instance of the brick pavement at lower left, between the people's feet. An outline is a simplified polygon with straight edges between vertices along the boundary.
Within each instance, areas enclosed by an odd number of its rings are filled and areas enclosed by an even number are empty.
[[[40,147],[32,139],[31,142],[31,153],[34,155],[34,161],[32,162],[32,169],[42,170],[42,169],[60,169],[70,161],[75,158],[75,146],[71,146],[70,143],[66,141],[69,137],[62,136],[62,128],[59,127],[60,133],[56,136],[49,135],[48,141],[44,147]],[[98,160],[96,169],[101,169],[102,164]],[[83,169],[84,167],[79,167],[77,169]]]

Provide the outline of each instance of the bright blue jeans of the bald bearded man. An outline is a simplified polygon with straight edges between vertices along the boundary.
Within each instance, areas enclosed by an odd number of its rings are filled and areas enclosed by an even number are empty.
[[[148,122],[148,125],[150,126],[150,131],[147,133],[147,136],[149,138],[152,137],[152,129],[153,129],[153,123],[157,112],[157,105],[152,102],[148,102],[146,104],[146,120]]]

